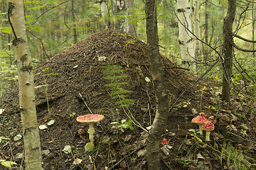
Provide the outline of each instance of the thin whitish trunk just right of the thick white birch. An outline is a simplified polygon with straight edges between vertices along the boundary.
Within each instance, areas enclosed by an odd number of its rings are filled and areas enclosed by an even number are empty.
[[[194,34],[198,39],[201,38],[200,36],[200,22],[199,22],[199,0],[193,1],[193,20],[194,20]],[[201,61],[200,57],[200,46],[201,42],[200,40],[195,39],[194,40],[194,52],[195,52],[195,59],[196,61]]]

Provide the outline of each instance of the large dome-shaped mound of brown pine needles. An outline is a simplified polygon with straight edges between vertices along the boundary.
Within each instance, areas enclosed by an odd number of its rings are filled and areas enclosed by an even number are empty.
[[[162,57],[162,61],[170,103],[173,104],[178,98],[180,100],[195,98],[193,95],[195,92],[190,89],[195,82],[193,76],[183,69],[176,69],[176,64],[166,57]],[[60,154],[65,145],[78,148],[74,152],[80,155],[80,159],[81,157],[85,159],[84,145],[87,137],[83,141],[75,135],[80,128],[87,128],[75,120],[79,115],[88,114],[90,111],[105,115],[105,120],[100,123],[101,126],[95,125],[95,145],[101,142],[100,137],[103,134],[111,136],[109,134],[111,131],[110,123],[127,119],[127,113],[116,104],[119,98],[110,96],[112,87],[106,86],[106,84],[111,83],[110,79],[105,79],[105,77],[110,77],[104,72],[104,66],[107,64],[118,65],[119,69],[122,69],[122,73],[120,73],[122,79],[117,80],[117,82],[122,81],[124,90],[129,91],[124,95],[124,98],[134,101],[129,106],[133,118],[143,128],[148,127],[150,120],[152,122],[154,119],[156,106],[154,86],[152,82],[145,80],[146,77],[151,79],[146,44],[117,30],[102,30],[95,33],[90,38],[82,40],[55,55],[34,70],[34,74],[36,74],[35,86],[38,87],[35,89],[38,124],[45,125],[49,120],[55,120],[53,125],[40,131],[42,149],[49,149],[51,154],[51,156],[43,155],[45,169],[50,169],[52,166],[55,169],[70,169],[70,166],[74,166],[72,164],[73,157],[68,154]],[[113,76],[117,75],[113,74]],[[79,94],[82,95],[90,111],[85,107]],[[180,97],[181,94],[183,96]],[[22,134],[18,110],[18,87],[9,91],[4,96],[3,101],[1,108],[6,108],[4,115],[9,117],[11,128],[15,129],[16,133]],[[194,101],[190,102],[193,105]],[[150,112],[149,108],[151,108]],[[183,111],[191,114],[189,107],[183,108]],[[170,119],[169,125],[176,128],[176,121]],[[134,132],[134,137],[140,137],[140,132],[143,132],[142,128],[133,126],[137,130],[130,132]],[[0,132],[0,135],[6,136],[6,134],[8,132]],[[132,138],[132,140],[135,139]],[[7,153],[9,145],[5,147],[3,149],[6,149]],[[118,153],[121,148],[122,146],[116,147],[112,152]],[[22,153],[22,145],[16,147],[14,152],[14,154]],[[122,153],[128,152],[123,151]],[[105,155],[101,151],[99,154]],[[122,155],[116,157],[116,159],[121,158]],[[59,162],[60,159],[66,160],[66,163],[57,164],[56,162]],[[105,167],[109,163],[104,156],[97,161],[100,161],[97,162],[97,167]],[[16,162],[21,162],[21,159],[17,159]]]

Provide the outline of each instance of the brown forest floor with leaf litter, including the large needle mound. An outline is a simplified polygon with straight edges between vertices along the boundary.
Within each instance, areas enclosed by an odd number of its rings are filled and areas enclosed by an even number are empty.
[[[162,60],[170,104],[162,134],[169,140],[170,153],[160,151],[162,169],[256,169],[255,101],[233,96],[230,103],[222,103],[218,81],[193,76],[166,57]],[[38,125],[46,125],[40,130],[43,168],[146,169],[147,128],[156,112],[149,67],[144,42],[117,30],[102,30],[36,68]],[[125,85],[120,89],[117,83]],[[134,102],[129,105],[127,99]],[[0,114],[0,159],[16,162],[12,169],[22,169],[18,87],[0,102],[5,109]],[[105,119],[94,125],[95,149],[85,152],[88,136],[80,137],[78,130],[86,132],[88,125],[76,118],[90,111]],[[202,111],[218,120],[210,142],[191,123]],[[130,119],[134,130],[125,124]],[[50,120],[55,122],[47,125]],[[64,149],[68,145],[71,150]]]

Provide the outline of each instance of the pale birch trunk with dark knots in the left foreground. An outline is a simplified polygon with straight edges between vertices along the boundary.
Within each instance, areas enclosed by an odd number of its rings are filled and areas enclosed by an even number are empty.
[[[19,101],[25,150],[25,169],[41,170],[41,145],[36,116],[33,68],[26,37],[23,1],[10,0],[8,11],[15,36],[13,45],[18,70]]]

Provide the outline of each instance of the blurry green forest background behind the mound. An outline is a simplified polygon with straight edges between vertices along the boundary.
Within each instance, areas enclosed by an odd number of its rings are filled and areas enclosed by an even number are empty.
[[[31,56],[35,64],[41,64],[54,55],[83,40],[92,33],[105,28],[116,28],[115,23],[129,18],[125,23],[133,24],[139,40],[146,42],[144,1],[132,1],[127,11],[117,11],[113,1],[107,2],[107,13],[102,13],[102,1],[24,1],[26,26]],[[191,1],[191,18],[193,18]],[[255,8],[253,1],[237,1],[238,8],[234,28],[239,26],[239,35],[250,40],[255,39]],[[223,18],[228,8],[228,1],[199,1],[200,54],[196,60],[196,73],[203,74],[208,68],[207,77],[222,77],[221,62],[215,50],[221,53],[223,47]],[[8,1],[1,1],[1,94],[16,82],[14,52],[11,48],[11,28],[8,23]],[[157,1],[159,45],[161,54],[169,57],[178,65],[181,64],[181,50],[178,43],[178,18],[176,1]],[[129,12],[129,13],[127,13]],[[192,25],[193,25],[193,19]],[[239,22],[239,23],[238,23]],[[107,26],[106,26],[107,25]],[[193,28],[193,27],[192,27]],[[193,33],[193,30],[191,30]],[[196,38],[194,38],[195,40]],[[240,47],[254,50],[254,43],[235,38]],[[233,80],[240,81],[241,72],[245,77],[255,75],[255,53],[235,50]],[[214,64],[214,65],[213,65]],[[245,71],[247,74],[245,74]],[[240,77],[240,78],[239,78]],[[248,79],[248,77],[247,77]],[[249,78],[250,79],[250,78]]]

